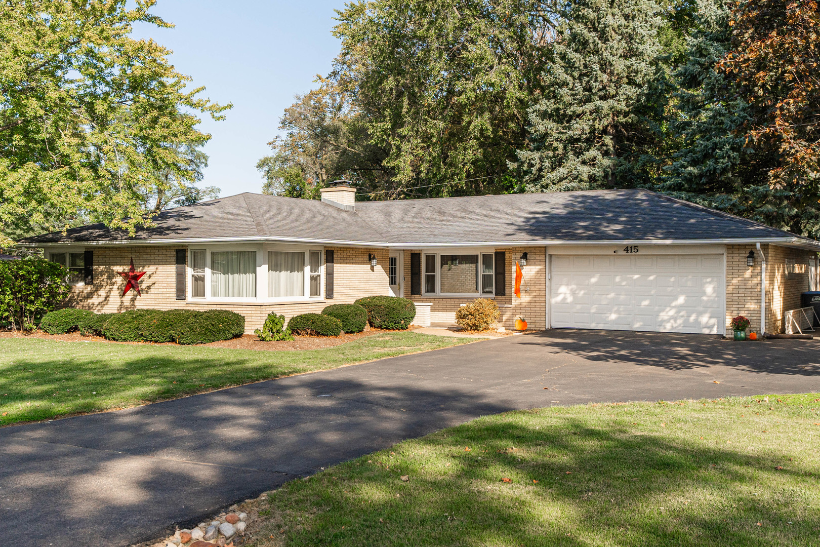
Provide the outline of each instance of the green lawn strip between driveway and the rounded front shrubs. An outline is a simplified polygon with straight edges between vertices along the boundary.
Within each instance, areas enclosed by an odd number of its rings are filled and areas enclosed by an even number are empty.
[[[327,349],[262,351],[7,338],[0,340],[0,425],[125,408],[471,341],[395,332]]]

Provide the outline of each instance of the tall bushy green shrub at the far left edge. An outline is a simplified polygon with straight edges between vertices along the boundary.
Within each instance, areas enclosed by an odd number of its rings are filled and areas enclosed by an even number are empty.
[[[71,288],[68,270],[42,258],[0,260],[0,323],[34,329],[56,309]]]

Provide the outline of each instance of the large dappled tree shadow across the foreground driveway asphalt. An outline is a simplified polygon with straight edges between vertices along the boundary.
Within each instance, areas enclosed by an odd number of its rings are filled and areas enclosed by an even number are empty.
[[[320,467],[508,410],[464,390],[374,387],[342,372],[0,429],[0,492],[16,510],[7,534],[21,545],[130,545]]]

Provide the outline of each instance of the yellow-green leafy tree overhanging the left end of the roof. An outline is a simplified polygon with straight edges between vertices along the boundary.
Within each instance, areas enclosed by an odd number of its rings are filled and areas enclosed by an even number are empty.
[[[170,23],[154,0],[9,0],[0,5],[0,237],[104,221],[150,222],[158,173],[195,179],[185,147],[210,135],[196,112],[228,106],[187,89],[170,53],[130,37],[134,22]]]

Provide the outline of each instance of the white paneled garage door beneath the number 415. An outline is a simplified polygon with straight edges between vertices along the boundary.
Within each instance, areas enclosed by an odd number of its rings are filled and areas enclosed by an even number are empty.
[[[717,334],[722,254],[553,256],[552,326]]]

